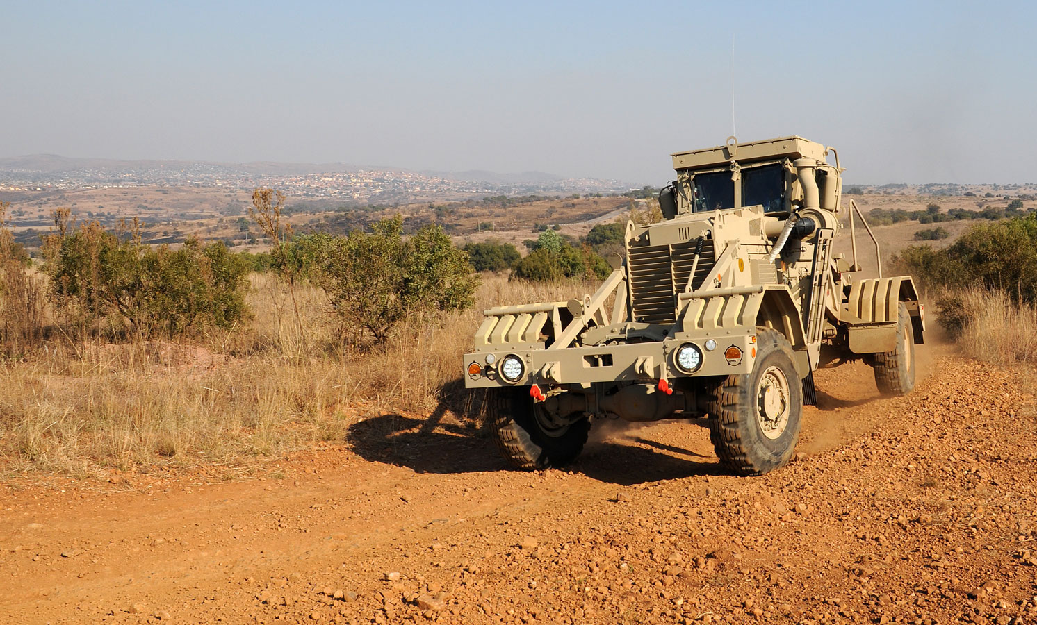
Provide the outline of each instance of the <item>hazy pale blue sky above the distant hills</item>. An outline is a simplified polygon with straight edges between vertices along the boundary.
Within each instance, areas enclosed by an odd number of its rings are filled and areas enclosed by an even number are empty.
[[[0,0],[0,157],[658,186],[733,133],[847,183],[1035,182],[1035,6]]]

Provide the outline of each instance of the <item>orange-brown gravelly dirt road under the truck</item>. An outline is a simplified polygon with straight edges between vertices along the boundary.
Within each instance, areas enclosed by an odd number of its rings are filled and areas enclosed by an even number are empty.
[[[906,398],[819,374],[761,478],[688,423],[599,424],[526,474],[388,416],[258,480],[8,483],[0,622],[1037,622],[1033,376],[928,359]]]

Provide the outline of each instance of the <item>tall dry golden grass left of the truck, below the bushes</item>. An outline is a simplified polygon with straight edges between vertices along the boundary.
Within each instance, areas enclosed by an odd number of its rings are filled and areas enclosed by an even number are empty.
[[[52,339],[0,365],[0,466],[88,475],[160,465],[247,466],[342,442],[380,410],[464,410],[460,356],[481,310],[567,300],[592,284],[483,280],[473,310],[411,319],[389,344],[343,344],[324,294],[253,275],[246,325],[193,342]],[[4,462],[3,460],[6,460]]]

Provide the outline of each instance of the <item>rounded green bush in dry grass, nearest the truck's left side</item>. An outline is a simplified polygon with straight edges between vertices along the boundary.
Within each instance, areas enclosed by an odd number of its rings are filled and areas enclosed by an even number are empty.
[[[410,315],[469,308],[478,276],[439,226],[402,236],[400,217],[372,232],[300,237],[298,258],[328,293],[345,330],[381,344]]]

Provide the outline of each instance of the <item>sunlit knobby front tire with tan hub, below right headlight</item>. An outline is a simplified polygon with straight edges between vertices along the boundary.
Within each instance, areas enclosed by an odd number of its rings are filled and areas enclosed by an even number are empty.
[[[803,385],[792,346],[780,333],[757,329],[751,373],[729,375],[709,389],[709,439],[730,471],[755,476],[788,462],[800,439]]]

